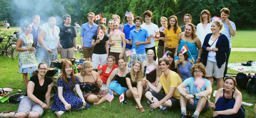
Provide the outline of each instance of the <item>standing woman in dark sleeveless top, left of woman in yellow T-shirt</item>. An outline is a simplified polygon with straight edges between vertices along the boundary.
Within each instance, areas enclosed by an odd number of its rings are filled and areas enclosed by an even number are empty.
[[[164,40],[165,40],[164,30],[167,28],[167,23],[168,23],[167,18],[163,17],[163,16],[160,18],[160,21],[161,21],[161,25],[162,25],[162,27],[159,27],[160,38],[155,38],[155,41],[158,41],[158,46],[157,46],[158,60],[160,58],[162,58],[164,55]]]

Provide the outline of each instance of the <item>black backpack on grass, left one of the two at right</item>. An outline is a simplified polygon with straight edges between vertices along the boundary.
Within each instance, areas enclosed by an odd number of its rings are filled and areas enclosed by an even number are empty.
[[[245,73],[237,73],[235,80],[237,81],[238,88],[246,89],[249,79]]]

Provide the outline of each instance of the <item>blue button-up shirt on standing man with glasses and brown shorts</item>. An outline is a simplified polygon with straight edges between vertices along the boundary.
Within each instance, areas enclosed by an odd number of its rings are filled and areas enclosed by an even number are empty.
[[[89,27],[88,23],[82,24],[81,34],[80,36],[83,38],[84,47],[91,48],[92,47],[92,37],[97,34],[98,25],[93,23],[92,27]]]

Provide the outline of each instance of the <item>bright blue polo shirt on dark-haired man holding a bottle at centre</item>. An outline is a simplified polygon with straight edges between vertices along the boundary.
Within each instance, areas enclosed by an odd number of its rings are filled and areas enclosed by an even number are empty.
[[[139,45],[139,47],[136,47],[135,41],[146,41],[147,37],[149,37],[148,31],[143,28],[141,28],[138,33],[135,30],[135,28],[132,31],[130,31],[129,39],[132,40],[132,49],[135,49],[137,54],[146,53],[146,49],[144,44],[141,44]]]

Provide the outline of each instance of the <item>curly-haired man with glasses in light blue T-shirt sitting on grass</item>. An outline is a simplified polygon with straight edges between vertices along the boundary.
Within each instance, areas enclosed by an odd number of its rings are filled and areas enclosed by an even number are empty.
[[[197,118],[201,112],[209,110],[206,97],[212,93],[212,87],[211,82],[205,79],[206,71],[202,63],[196,63],[191,68],[193,77],[187,78],[177,87],[180,93],[181,118],[186,118],[186,108],[195,110],[192,118]],[[186,86],[189,87],[189,93]]]

